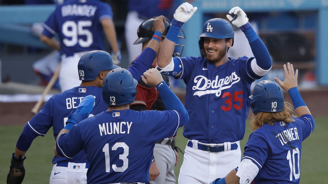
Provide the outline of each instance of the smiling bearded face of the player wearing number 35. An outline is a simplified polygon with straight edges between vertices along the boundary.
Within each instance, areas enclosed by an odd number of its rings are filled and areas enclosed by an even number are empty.
[[[216,63],[227,57],[227,50],[232,45],[232,39],[204,38],[204,50],[206,59],[210,63]]]

